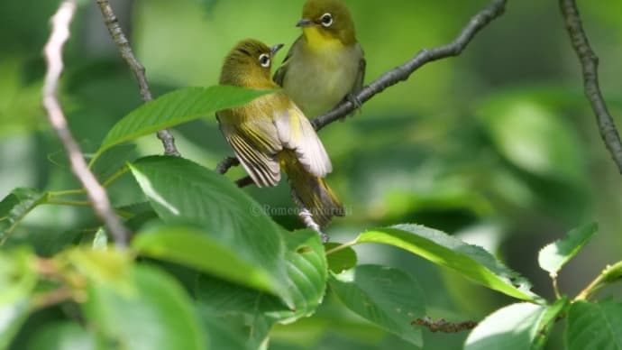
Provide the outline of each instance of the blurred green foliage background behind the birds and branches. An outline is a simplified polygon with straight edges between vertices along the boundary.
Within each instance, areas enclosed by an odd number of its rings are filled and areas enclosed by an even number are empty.
[[[106,131],[141,100],[94,2],[84,3],[65,55],[61,99],[78,142],[85,152],[93,152]],[[160,96],[175,88],[215,85],[224,55],[241,39],[290,44],[299,35],[294,24],[303,1],[111,3],[147,69],[154,95]],[[422,48],[452,41],[471,15],[489,4],[346,3],[368,61],[366,82]],[[2,4],[0,198],[18,186],[78,186],[40,106],[45,69],[41,48],[57,5],[58,1],[39,0]],[[601,59],[603,93],[612,114],[622,115],[622,3],[580,5]],[[174,134],[184,156],[209,168],[232,153],[212,115]],[[606,263],[622,256],[622,178],[582,95],[578,61],[553,1],[510,2],[507,13],[459,58],[426,65],[407,82],[371,99],[360,114],[326,127],[320,136],[334,163],[328,181],[349,214],[328,229],[334,241],[351,239],[373,226],[432,226],[498,254],[546,297],[552,297],[553,290],[547,274],[537,267],[538,250],[570,228],[596,221],[600,230],[562,272],[564,292],[574,295]],[[145,137],[133,152],[160,153],[161,146],[155,137]],[[241,169],[227,174],[232,180],[242,175]],[[246,190],[267,207],[291,207],[288,188],[281,185]],[[142,200],[129,178],[111,191],[119,206]],[[288,228],[299,226],[294,216],[275,219]],[[89,210],[41,207],[17,237],[34,232],[53,244],[52,232],[76,226],[96,226]],[[510,301],[398,250],[363,246],[359,258],[361,263],[398,266],[416,277],[433,318],[479,320]],[[407,348],[361,326],[333,297],[327,300],[315,318],[278,327],[271,348]],[[425,348],[456,348],[464,336],[425,332]],[[549,348],[559,341],[553,336]]]

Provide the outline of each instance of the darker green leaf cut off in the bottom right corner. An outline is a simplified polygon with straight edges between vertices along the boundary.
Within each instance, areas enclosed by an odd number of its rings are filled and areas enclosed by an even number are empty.
[[[568,350],[621,350],[622,304],[612,299],[572,303],[565,340]]]

